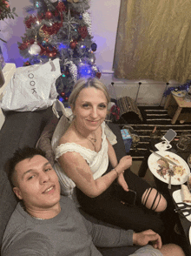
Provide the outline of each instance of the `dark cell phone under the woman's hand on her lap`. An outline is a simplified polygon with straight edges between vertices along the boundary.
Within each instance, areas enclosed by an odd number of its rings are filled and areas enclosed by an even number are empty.
[[[135,205],[136,192],[131,189],[128,189],[127,192],[123,190],[121,185],[118,185],[116,190],[116,197],[122,203],[125,203],[127,205]]]

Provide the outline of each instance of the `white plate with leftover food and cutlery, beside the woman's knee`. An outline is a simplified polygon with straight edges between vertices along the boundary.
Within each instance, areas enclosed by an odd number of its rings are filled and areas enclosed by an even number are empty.
[[[159,151],[157,153],[159,153],[162,157],[165,157],[165,158],[168,158],[169,156],[170,160],[174,161],[177,165],[181,165],[183,168],[185,168],[185,173],[182,176],[175,175],[171,177],[172,185],[181,185],[188,180],[190,169],[188,167],[187,162],[184,161],[184,159],[182,159],[181,157],[179,157],[173,152]],[[166,174],[163,178],[159,173],[157,173],[157,170],[159,169],[159,166],[160,166],[159,164],[157,164],[158,159],[160,159],[160,157],[155,155],[155,153],[152,153],[148,158],[148,168],[150,169],[150,172],[152,172],[157,179],[160,179],[161,181],[168,183],[169,182],[168,174]],[[173,165],[169,163],[169,166],[172,167]]]

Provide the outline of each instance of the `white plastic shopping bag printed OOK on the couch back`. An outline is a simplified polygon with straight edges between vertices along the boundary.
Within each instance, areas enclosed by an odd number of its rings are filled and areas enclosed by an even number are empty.
[[[56,78],[61,75],[59,58],[46,64],[16,69],[0,104],[4,111],[36,111],[51,106],[57,98]]]

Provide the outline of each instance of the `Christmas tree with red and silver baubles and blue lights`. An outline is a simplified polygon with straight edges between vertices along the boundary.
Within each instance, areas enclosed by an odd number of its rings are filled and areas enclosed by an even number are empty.
[[[60,58],[62,76],[56,80],[60,100],[67,103],[80,77],[101,77],[95,65],[97,45],[91,35],[89,0],[30,0],[24,18],[26,32],[18,43],[24,65]]]

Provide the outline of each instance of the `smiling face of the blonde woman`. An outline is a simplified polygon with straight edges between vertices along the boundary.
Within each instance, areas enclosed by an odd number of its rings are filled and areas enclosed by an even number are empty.
[[[72,108],[78,127],[89,131],[95,131],[102,124],[107,110],[108,101],[104,92],[95,87],[82,89],[76,98],[75,108]]]

